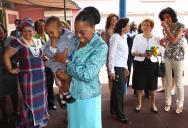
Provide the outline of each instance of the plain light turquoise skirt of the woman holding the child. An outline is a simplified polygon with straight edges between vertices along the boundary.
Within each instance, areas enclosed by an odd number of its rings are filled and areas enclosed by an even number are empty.
[[[69,128],[102,128],[101,95],[67,104]]]

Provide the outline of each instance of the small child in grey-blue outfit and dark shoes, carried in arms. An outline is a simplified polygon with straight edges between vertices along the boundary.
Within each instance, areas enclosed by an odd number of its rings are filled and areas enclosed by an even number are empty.
[[[61,94],[63,93],[63,100],[67,103],[72,103],[75,99],[69,93],[70,79],[59,80],[58,78],[61,77],[57,78],[59,70],[66,70],[66,62],[57,62],[54,57],[56,54],[62,54],[64,56],[63,60],[70,58],[75,49],[75,46],[71,43],[71,40],[74,39],[74,34],[67,29],[62,29],[61,21],[54,16],[46,20],[46,32],[50,37],[49,43],[44,48],[44,54],[49,58],[46,65],[54,73],[56,84],[60,89],[60,99],[62,99]],[[62,104],[65,104],[64,101]]]

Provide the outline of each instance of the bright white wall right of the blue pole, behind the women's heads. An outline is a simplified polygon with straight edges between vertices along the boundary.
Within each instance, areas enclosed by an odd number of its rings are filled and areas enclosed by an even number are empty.
[[[152,18],[155,22],[155,27],[154,27],[153,32],[156,35],[161,36],[162,28],[160,26],[160,20],[158,18],[159,12],[163,8],[172,7],[177,12],[179,21],[184,23],[188,27],[188,23],[186,22],[188,21],[188,9],[186,7],[186,5],[188,5],[188,1],[187,0],[174,0],[174,1],[166,0],[166,1],[167,2],[143,2],[142,0],[127,0],[128,16],[131,13],[153,14]],[[141,22],[141,20],[138,20],[137,22]]]

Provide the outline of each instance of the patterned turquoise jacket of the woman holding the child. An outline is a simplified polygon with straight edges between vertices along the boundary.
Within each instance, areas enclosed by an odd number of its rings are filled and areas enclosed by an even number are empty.
[[[95,33],[86,46],[74,52],[67,65],[67,73],[72,77],[70,93],[75,99],[88,99],[101,94],[99,72],[106,63],[107,51],[107,44]]]

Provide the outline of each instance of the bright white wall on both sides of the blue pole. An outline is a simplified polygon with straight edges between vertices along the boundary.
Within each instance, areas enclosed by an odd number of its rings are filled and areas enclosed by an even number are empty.
[[[153,32],[161,36],[160,20],[158,18],[159,12],[167,6],[172,7],[178,13],[178,19],[188,27],[188,0],[147,0],[150,2],[143,2],[146,0],[127,0],[127,17],[130,21],[140,23],[144,18],[152,18],[155,22]],[[154,2],[157,1],[157,2]],[[167,1],[167,2],[164,2]],[[102,14],[102,20],[97,29],[104,29],[106,17],[109,13],[119,13],[119,0],[75,0],[81,8],[86,6],[94,6]]]

